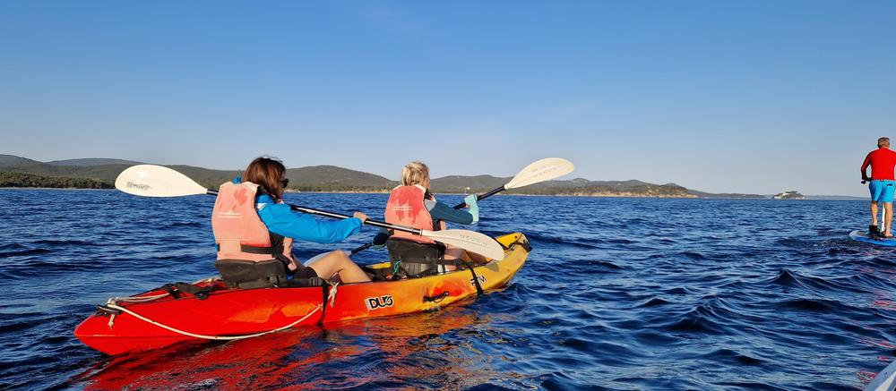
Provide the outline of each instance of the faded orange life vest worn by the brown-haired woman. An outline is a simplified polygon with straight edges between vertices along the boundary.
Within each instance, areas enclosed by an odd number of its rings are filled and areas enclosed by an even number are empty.
[[[258,185],[251,182],[224,183],[211,212],[211,231],[218,244],[218,259],[261,262],[292,258],[292,238],[268,231],[258,211],[255,195]]]

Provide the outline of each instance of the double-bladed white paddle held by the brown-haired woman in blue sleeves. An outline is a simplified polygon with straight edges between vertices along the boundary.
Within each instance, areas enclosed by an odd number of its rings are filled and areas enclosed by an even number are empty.
[[[142,197],[182,197],[188,195],[211,194],[217,195],[218,191],[206,189],[201,184],[171,168],[154,165],[131,166],[118,174],[115,181],[116,189],[128,194]],[[299,207],[288,204],[289,208],[307,214],[332,217],[351,218],[351,216],[339,213],[327,212],[312,208]],[[495,239],[485,234],[462,229],[449,229],[444,231],[427,231],[425,229],[412,228],[404,225],[393,225],[367,219],[364,224],[417,234],[438,242],[451,244],[466,251],[475,252],[491,259],[504,259],[504,249]]]

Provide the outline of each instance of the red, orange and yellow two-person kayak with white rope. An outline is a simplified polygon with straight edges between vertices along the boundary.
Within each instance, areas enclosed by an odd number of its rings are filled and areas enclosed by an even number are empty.
[[[531,247],[520,233],[496,237],[504,259],[437,276],[368,283],[229,289],[212,277],[166,285],[99,305],[74,329],[83,344],[110,355],[199,340],[233,340],[291,327],[435,310],[507,285]],[[387,268],[388,262],[372,268]],[[475,276],[475,277],[474,277]]]

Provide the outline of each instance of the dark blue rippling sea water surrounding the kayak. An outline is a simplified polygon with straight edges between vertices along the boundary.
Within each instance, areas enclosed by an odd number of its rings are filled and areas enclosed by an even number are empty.
[[[386,196],[288,200],[381,216]],[[483,201],[474,228],[532,242],[502,291],[133,356],[80,344],[108,297],[216,273],[213,202],[0,190],[0,388],[855,390],[896,349],[896,250],[847,236],[865,202],[513,196]]]

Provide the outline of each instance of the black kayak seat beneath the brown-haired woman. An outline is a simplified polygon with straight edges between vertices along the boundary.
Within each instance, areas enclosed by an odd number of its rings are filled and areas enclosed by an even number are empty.
[[[215,268],[229,288],[256,289],[271,287],[321,286],[323,279],[289,279],[286,267],[280,259],[254,262],[242,259],[219,259]]]

